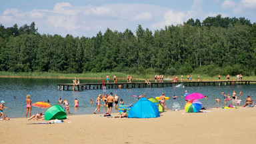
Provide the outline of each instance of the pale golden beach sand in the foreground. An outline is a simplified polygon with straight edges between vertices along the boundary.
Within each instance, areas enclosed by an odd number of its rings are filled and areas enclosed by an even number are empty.
[[[0,121],[0,143],[255,143],[255,107],[204,111],[167,111],[153,119],[67,115],[71,123],[49,125],[16,118]]]

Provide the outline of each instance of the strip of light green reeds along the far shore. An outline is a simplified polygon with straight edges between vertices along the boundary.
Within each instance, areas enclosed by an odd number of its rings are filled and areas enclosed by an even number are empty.
[[[6,78],[38,78],[38,79],[74,79],[75,77],[78,79],[106,79],[106,76],[109,75],[112,78],[114,75],[117,75],[117,79],[126,80],[127,75],[131,75],[133,80],[141,80],[149,79],[151,82],[155,81],[155,75],[146,74],[146,75],[137,75],[137,74],[127,74],[121,72],[105,72],[105,73],[48,73],[48,72],[5,72],[0,71],[0,77]],[[193,75],[193,81],[197,81],[197,77],[199,74],[191,74]],[[189,75],[189,81],[190,77]],[[171,81],[173,77],[178,77],[179,81],[181,81],[181,75],[164,75],[164,79],[166,81]],[[221,81],[225,81],[226,76],[221,76]],[[237,81],[235,76],[231,76],[229,81]],[[251,80],[256,81],[256,76],[244,76],[243,80]],[[183,75],[183,81],[187,81],[187,75]],[[208,75],[200,75],[200,81],[219,81],[218,76],[210,77]]]

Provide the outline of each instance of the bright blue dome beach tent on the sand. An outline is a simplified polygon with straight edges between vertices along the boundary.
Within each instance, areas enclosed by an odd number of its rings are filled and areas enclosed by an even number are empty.
[[[152,118],[160,117],[159,110],[155,103],[143,97],[137,101],[129,110],[128,118]]]

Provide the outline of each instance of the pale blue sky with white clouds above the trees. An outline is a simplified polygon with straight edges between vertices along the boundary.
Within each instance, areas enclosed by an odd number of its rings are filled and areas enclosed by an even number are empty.
[[[138,25],[155,31],[218,14],[255,23],[256,0],[0,0],[1,25],[34,21],[39,33],[63,37],[94,37],[107,28],[135,33]]]

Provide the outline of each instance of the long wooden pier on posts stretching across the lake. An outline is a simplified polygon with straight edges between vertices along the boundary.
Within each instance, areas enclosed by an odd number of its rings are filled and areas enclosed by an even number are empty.
[[[146,87],[175,87],[176,85],[183,84],[185,87],[195,86],[221,86],[221,85],[249,85],[250,83],[256,83],[256,81],[192,81],[192,82],[151,82],[151,85],[147,83],[80,83],[73,87],[73,83],[57,83],[58,90],[85,90],[85,89],[130,89],[130,88],[146,88]],[[70,88],[71,87],[71,88]]]

